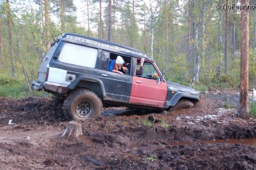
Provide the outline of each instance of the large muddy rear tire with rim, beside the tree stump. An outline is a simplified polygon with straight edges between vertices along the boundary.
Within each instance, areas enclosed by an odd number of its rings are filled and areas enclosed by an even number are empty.
[[[102,101],[94,92],[79,89],[65,99],[63,111],[68,119],[85,120],[98,117],[102,112]]]

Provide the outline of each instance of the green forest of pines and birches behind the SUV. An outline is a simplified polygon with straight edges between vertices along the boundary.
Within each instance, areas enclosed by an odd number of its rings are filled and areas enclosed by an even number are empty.
[[[256,78],[254,4],[250,1],[249,89]],[[239,5],[237,0],[1,0],[0,96],[42,95],[31,82],[51,43],[66,32],[146,52],[171,82],[199,91],[238,89]]]

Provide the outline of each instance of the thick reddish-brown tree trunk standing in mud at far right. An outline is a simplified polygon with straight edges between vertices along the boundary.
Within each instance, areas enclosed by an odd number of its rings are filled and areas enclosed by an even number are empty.
[[[248,6],[249,0],[241,1]],[[241,77],[240,77],[240,108],[238,114],[243,119],[249,118],[249,10],[241,9]]]

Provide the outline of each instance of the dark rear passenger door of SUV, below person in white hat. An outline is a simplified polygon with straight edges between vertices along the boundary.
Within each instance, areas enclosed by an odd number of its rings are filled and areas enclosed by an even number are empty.
[[[101,63],[98,71],[98,78],[102,81],[105,87],[105,100],[128,103],[132,88],[131,73],[121,75],[116,72],[108,71],[110,55],[112,58],[112,56],[120,54],[102,51]],[[123,55],[120,56],[124,57]],[[129,57],[126,56],[126,58]]]

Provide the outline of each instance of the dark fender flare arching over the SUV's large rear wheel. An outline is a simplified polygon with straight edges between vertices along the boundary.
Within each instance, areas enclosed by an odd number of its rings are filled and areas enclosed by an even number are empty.
[[[104,86],[103,82],[101,80],[99,80],[97,77],[86,76],[86,75],[79,75],[79,76],[77,76],[75,78],[75,80],[73,82],[71,82],[68,85],[68,88],[69,89],[75,89],[77,84],[79,82],[81,82],[82,80],[98,83],[100,85],[100,87],[101,87],[101,91],[102,91],[103,97],[106,97],[105,86]]]

